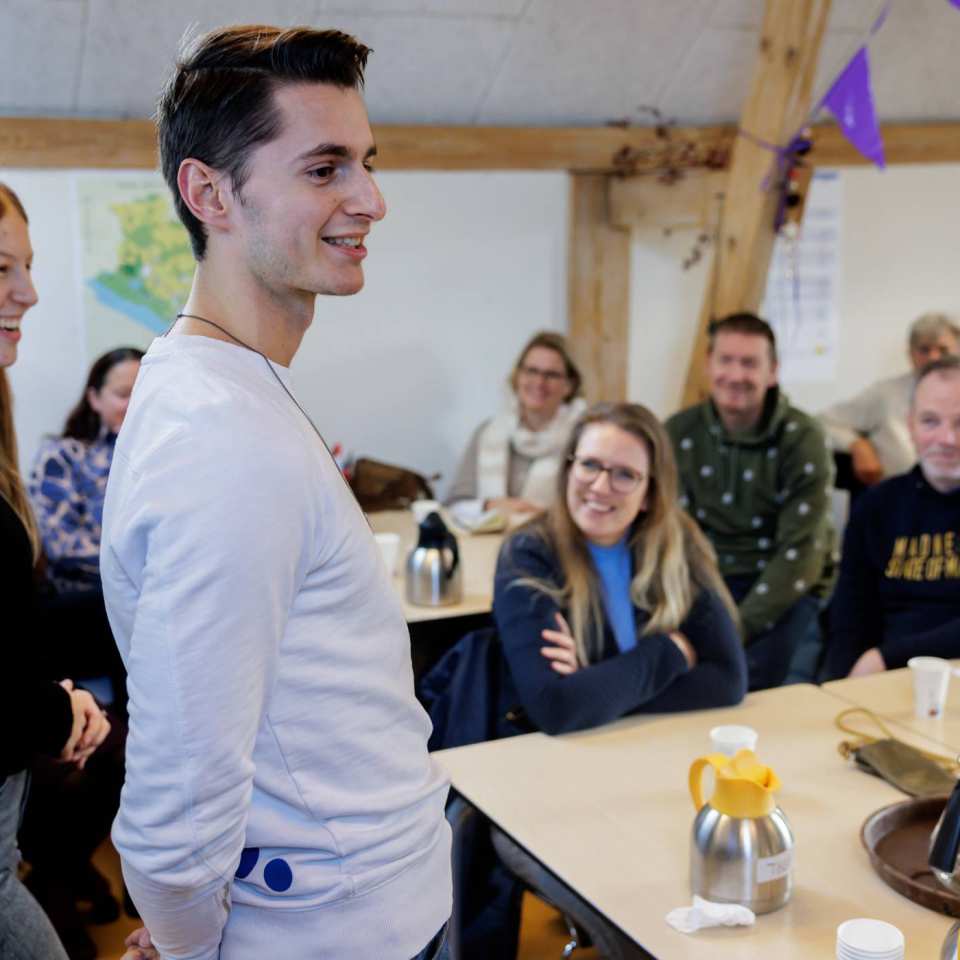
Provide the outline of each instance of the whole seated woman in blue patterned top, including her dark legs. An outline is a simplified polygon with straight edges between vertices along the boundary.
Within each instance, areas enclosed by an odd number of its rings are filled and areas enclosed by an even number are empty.
[[[112,691],[114,729],[99,762],[83,778],[66,776],[59,765],[34,763],[20,827],[20,846],[33,868],[31,892],[71,957],[94,956],[86,922],[109,919],[118,909],[90,860],[119,805],[127,704],[126,673],[100,586],[100,525],[114,443],[142,356],[123,347],[93,364],[63,434],[42,444],[29,483],[48,574],[37,598],[37,617],[45,625],[38,656],[54,676],[106,676]],[[58,818],[65,808],[82,812],[83,830],[74,829],[71,818]],[[92,909],[81,913],[78,899]]]

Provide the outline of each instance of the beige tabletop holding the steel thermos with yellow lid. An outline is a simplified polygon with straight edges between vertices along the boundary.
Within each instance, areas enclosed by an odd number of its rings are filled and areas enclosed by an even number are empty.
[[[853,917],[896,924],[906,955],[937,957],[951,921],[887,887],[860,844],[860,826],[904,797],[837,753],[836,696],[809,685],[751,694],[729,710],[631,718],[563,737],[529,734],[435,754],[453,784],[504,832],[658,960],[810,960],[835,955]],[[664,917],[691,902],[692,760],[718,723],[746,723],[783,781],[797,838],[795,888],[753,927],[687,936]]]

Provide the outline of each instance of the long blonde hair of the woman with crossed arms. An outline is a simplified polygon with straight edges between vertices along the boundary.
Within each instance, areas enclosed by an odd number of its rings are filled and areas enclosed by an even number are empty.
[[[717,569],[713,547],[680,507],[677,465],[670,438],[646,407],[634,403],[598,403],[580,417],[564,450],[552,506],[517,530],[542,537],[552,548],[559,561],[562,582],[520,577],[514,583],[541,590],[568,611],[581,663],[599,658],[603,646],[602,588],[587,540],[567,507],[572,458],[583,431],[593,424],[612,424],[636,437],[650,458],[646,510],[637,515],[627,541],[635,570],[630,599],[650,614],[643,633],[679,629],[704,589],[718,594],[734,621],[739,622],[736,605]]]

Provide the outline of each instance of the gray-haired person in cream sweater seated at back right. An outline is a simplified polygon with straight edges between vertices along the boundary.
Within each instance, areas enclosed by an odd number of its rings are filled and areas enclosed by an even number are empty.
[[[910,325],[909,373],[879,380],[857,396],[820,414],[830,444],[849,453],[853,472],[865,486],[909,470],[916,462],[907,414],[917,374],[934,360],[956,354],[960,325],[945,313],[925,313]]]

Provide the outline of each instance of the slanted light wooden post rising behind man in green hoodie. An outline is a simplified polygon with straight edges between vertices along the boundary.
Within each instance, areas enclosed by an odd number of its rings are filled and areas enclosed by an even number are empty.
[[[809,113],[830,0],[766,0],[757,62],[730,160],[722,230],[687,370],[683,404],[706,395],[703,358],[711,319],[760,307],[773,253],[776,157]],[[762,141],[758,142],[758,141]],[[769,178],[769,189],[764,182]]]

